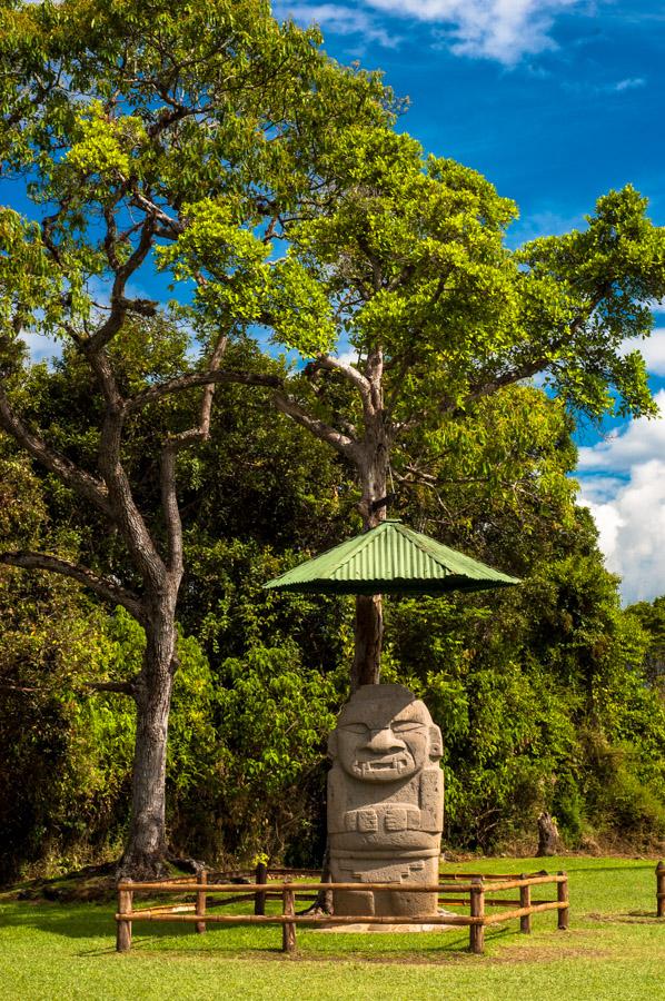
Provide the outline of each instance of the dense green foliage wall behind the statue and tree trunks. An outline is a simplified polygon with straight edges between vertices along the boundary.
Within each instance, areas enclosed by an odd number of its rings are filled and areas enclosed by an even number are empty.
[[[67,410],[75,438],[83,374],[64,364],[32,373],[34,413],[44,408],[58,427]],[[449,440],[431,466],[436,485],[405,482],[396,504],[416,526],[526,582],[497,595],[391,599],[384,676],[423,693],[444,731],[448,846],[533,843],[543,807],[570,848],[647,845],[665,835],[653,642],[641,606],[621,611],[593,523],[575,506],[568,418],[540,390],[510,393],[509,403],[486,402],[467,428],[474,450]],[[137,462],[150,434],[146,424],[130,442]],[[525,435],[532,447],[519,458]],[[53,526],[64,531],[62,492],[4,448],[6,533],[53,544]],[[496,488],[496,464],[512,489]],[[171,840],[207,859],[266,852],[310,863],[322,845],[325,736],[348,684],[353,613],[348,599],[276,595],[262,584],[346,532],[353,483],[258,394],[234,388],[185,473],[188,638],[169,735]],[[146,503],[157,476],[145,467]],[[66,531],[70,551],[112,558],[112,537],[95,536],[83,512],[70,509]],[[129,676],[142,635],[73,584],[0,576],[9,878],[26,863],[92,858],[121,842],[133,714],[128,700],[85,683]]]

